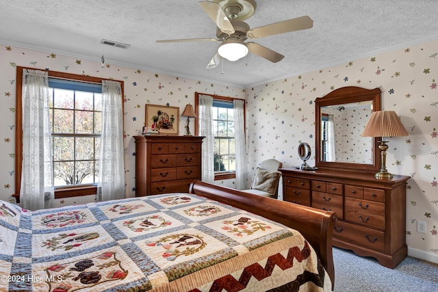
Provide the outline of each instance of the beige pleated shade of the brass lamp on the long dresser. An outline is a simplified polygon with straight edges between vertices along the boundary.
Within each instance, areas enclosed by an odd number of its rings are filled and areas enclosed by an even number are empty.
[[[409,135],[395,111],[373,111],[362,137],[400,137]]]

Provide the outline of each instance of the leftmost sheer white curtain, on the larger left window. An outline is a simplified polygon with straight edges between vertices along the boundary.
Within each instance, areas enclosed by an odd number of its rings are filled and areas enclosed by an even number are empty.
[[[53,207],[49,79],[41,70],[23,69],[23,162],[20,200],[29,210]]]

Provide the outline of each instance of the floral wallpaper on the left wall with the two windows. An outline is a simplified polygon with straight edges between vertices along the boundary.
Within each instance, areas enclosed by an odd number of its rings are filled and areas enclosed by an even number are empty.
[[[127,68],[105,64],[100,61],[77,59],[52,52],[33,51],[0,44],[0,200],[13,200],[14,157],[15,157],[15,88],[16,66],[49,69],[79,75],[90,75],[124,81],[125,85],[125,183],[126,195],[135,195],[135,144],[133,136],[142,134],[145,119],[145,105],[169,105],[179,107],[182,113],[185,105],[194,104],[194,92],[218,94],[244,98],[242,88],[164,75],[141,68]],[[179,135],[185,133],[185,119],[179,120]],[[224,182],[220,182],[225,184]],[[94,200],[94,196],[56,200],[55,206],[80,204]]]

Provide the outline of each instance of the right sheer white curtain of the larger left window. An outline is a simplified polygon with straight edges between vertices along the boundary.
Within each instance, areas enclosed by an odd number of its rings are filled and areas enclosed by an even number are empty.
[[[102,81],[102,133],[97,200],[125,198],[123,107],[120,82]]]

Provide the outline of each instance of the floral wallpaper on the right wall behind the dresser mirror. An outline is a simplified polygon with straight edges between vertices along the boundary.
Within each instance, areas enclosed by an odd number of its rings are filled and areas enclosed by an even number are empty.
[[[380,88],[382,109],[400,116],[407,137],[388,138],[387,169],[407,181],[409,254],[438,263],[438,40],[351,60],[246,88],[248,177],[254,165],[274,157],[300,165],[298,144],[314,152],[315,98],[344,86]],[[313,160],[307,163],[311,166]],[[417,220],[426,233],[417,232]]]

